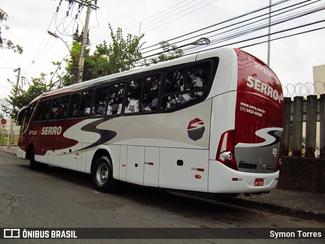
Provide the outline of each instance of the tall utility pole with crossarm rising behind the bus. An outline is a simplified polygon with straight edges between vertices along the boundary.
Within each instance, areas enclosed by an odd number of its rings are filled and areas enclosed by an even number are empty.
[[[95,5],[91,4],[92,0],[90,1],[82,1],[82,0],[74,0],[74,2],[79,3],[80,5],[87,6],[87,14],[86,14],[86,20],[83,30],[83,36],[82,36],[82,43],[80,48],[80,57],[79,57],[79,65],[78,65],[78,73],[77,73],[77,80],[76,83],[80,83],[82,81],[82,73],[83,73],[83,64],[85,61],[85,48],[87,45],[87,36],[88,36],[88,25],[89,25],[89,16],[90,16],[90,9],[98,9],[99,7],[96,6],[97,1],[95,0]]]

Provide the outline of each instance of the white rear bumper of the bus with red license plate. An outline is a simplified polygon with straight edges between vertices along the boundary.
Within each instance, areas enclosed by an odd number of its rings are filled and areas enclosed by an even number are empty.
[[[259,193],[273,190],[279,179],[274,173],[248,173],[233,170],[219,161],[209,161],[209,193]]]

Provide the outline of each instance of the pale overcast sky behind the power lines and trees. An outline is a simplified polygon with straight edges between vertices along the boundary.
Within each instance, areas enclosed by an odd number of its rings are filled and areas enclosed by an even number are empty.
[[[272,0],[272,4],[280,1],[282,0]],[[288,0],[283,4],[273,7],[272,10],[278,10],[301,2],[303,1]],[[68,17],[66,17],[69,4],[66,1],[62,1],[56,13],[59,3],[59,0],[2,1],[0,8],[8,13],[9,18],[5,24],[10,27],[9,30],[2,28],[2,37],[10,39],[14,44],[22,46],[23,52],[22,54],[18,54],[11,50],[0,49],[0,103],[3,103],[4,98],[7,98],[10,94],[11,84],[7,80],[9,79],[16,83],[17,72],[14,72],[14,69],[20,67],[21,76],[26,77],[27,80],[30,80],[31,77],[40,77],[41,72],[43,72],[47,74],[46,79],[49,81],[52,77],[50,73],[55,71],[52,62],[61,62],[69,54],[67,45],[71,46],[71,35],[76,31],[77,24],[79,24],[79,34],[81,33],[82,25],[85,21],[86,9],[84,8],[78,18],[75,19],[74,17],[78,12],[77,5],[70,9]],[[308,3],[311,3],[311,5],[287,12],[286,14],[274,16],[272,20],[275,21],[277,18],[284,18],[285,15],[297,14],[298,11],[307,11],[309,8],[325,6],[325,0],[311,0],[306,2],[306,4]],[[106,40],[108,43],[110,42],[108,23],[112,25],[114,31],[118,27],[121,27],[124,38],[126,38],[128,32],[133,35],[139,35],[139,32],[140,34],[144,33],[145,36],[142,39],[146,42],[144,47],[152,45],[158,47],[156,44],[160,41],[173,39],[197,31],[198,29],[266,7],[269,4],[270,0],[98,0],[97,6],[99,9],[96,11],[92,10],[90,13],[90,46],[88,48],[93,51],[95,45],[103,43],[103,40]],[[293,8],[291,7],[290,9]],[[201,37],[208,37],[213,41],[216,38],[213,35],[225,35],[221,33],[232,27],[220,29],[218,32],[210,34],[206,34],[205,32],[231,24],[234,27],[239,26],[235,24],[238,22],[241,22],[241,24],[248,23],[245,22],[248,18],[268,14],[268,12],[269,10],[266,9],[207,28],[205,31],[197,33],[200,34],[199,37],[180,42],[176,45],[188,44]],[[271,27],[271,32],[320,21],[324,19],[324,16],[325,11],[322,10],[295,20],[274,25]],[[256,19],[251,22],[254,21]],[[258,22],[256,21],[255,24],[257,25]],[[250,26],[252,25],[254,24],[252,23]],[[271,39],[320,27],[325,27],[325,22],[273,35]],[[62,40],[55,39],[47,34],[49,29],[55,32],[67,45]],[[268,28],[264,28],[261,31],[241,36],[234,40],[216,43],[214,46],[207,46],[206,48],[218,47],[235,41],[266,35],[267,33]],[[192,36],[194,34],[190,37]],[[184,40],[186,37],[173,40],[170,43]],[[267,37],[232,44],[229,47],[243,47],[262,41],[267,41]],[[284,95],[288,93],[287,88],[290,89],[289,93],[293,92],[293,85],[313,82],[312,67],[325,64],[324,43],[325,29],[271,42],[270,67],[279,77],[284,87]],[[150,50],[150,48],[145,50]],[[267,63],[267,43],[246,47],[243,50]],[[158,51],[156,50],[156,52]],[[297,87],[300,86],[298,85]]]

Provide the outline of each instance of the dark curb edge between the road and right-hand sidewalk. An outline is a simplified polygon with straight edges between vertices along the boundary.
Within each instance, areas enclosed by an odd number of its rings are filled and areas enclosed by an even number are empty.
[[[273,214],[279,214],[288,217],[295,217],[295,218],[325,223],[324,213],[298,209],[295,207],[281,206],[281,205],[276,205],[276,204],[266,203],[266,202],[257,202],[248,199],[243,199],[241,197],[234,198],[228,196],[217,196],[216,199],[222,203],[228,203],[228,204],[233,204],[241,207],[253,208],[253,209],[263,210],[263,211],[271,211]]]

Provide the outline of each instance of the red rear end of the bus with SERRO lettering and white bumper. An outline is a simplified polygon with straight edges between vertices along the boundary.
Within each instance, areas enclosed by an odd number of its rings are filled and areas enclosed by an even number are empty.
[[[235,51],[237,91],[220,95],[230,97],[235,125],[229,123],[228,130],[222,131],[216,161],[210,160],[209,192],[268,192],[277,185],[281,164],[282,88],[277,76],[261,60],[242,50]],[[213,114],[215,122],[211,127],[218,127],[218,114]]]

